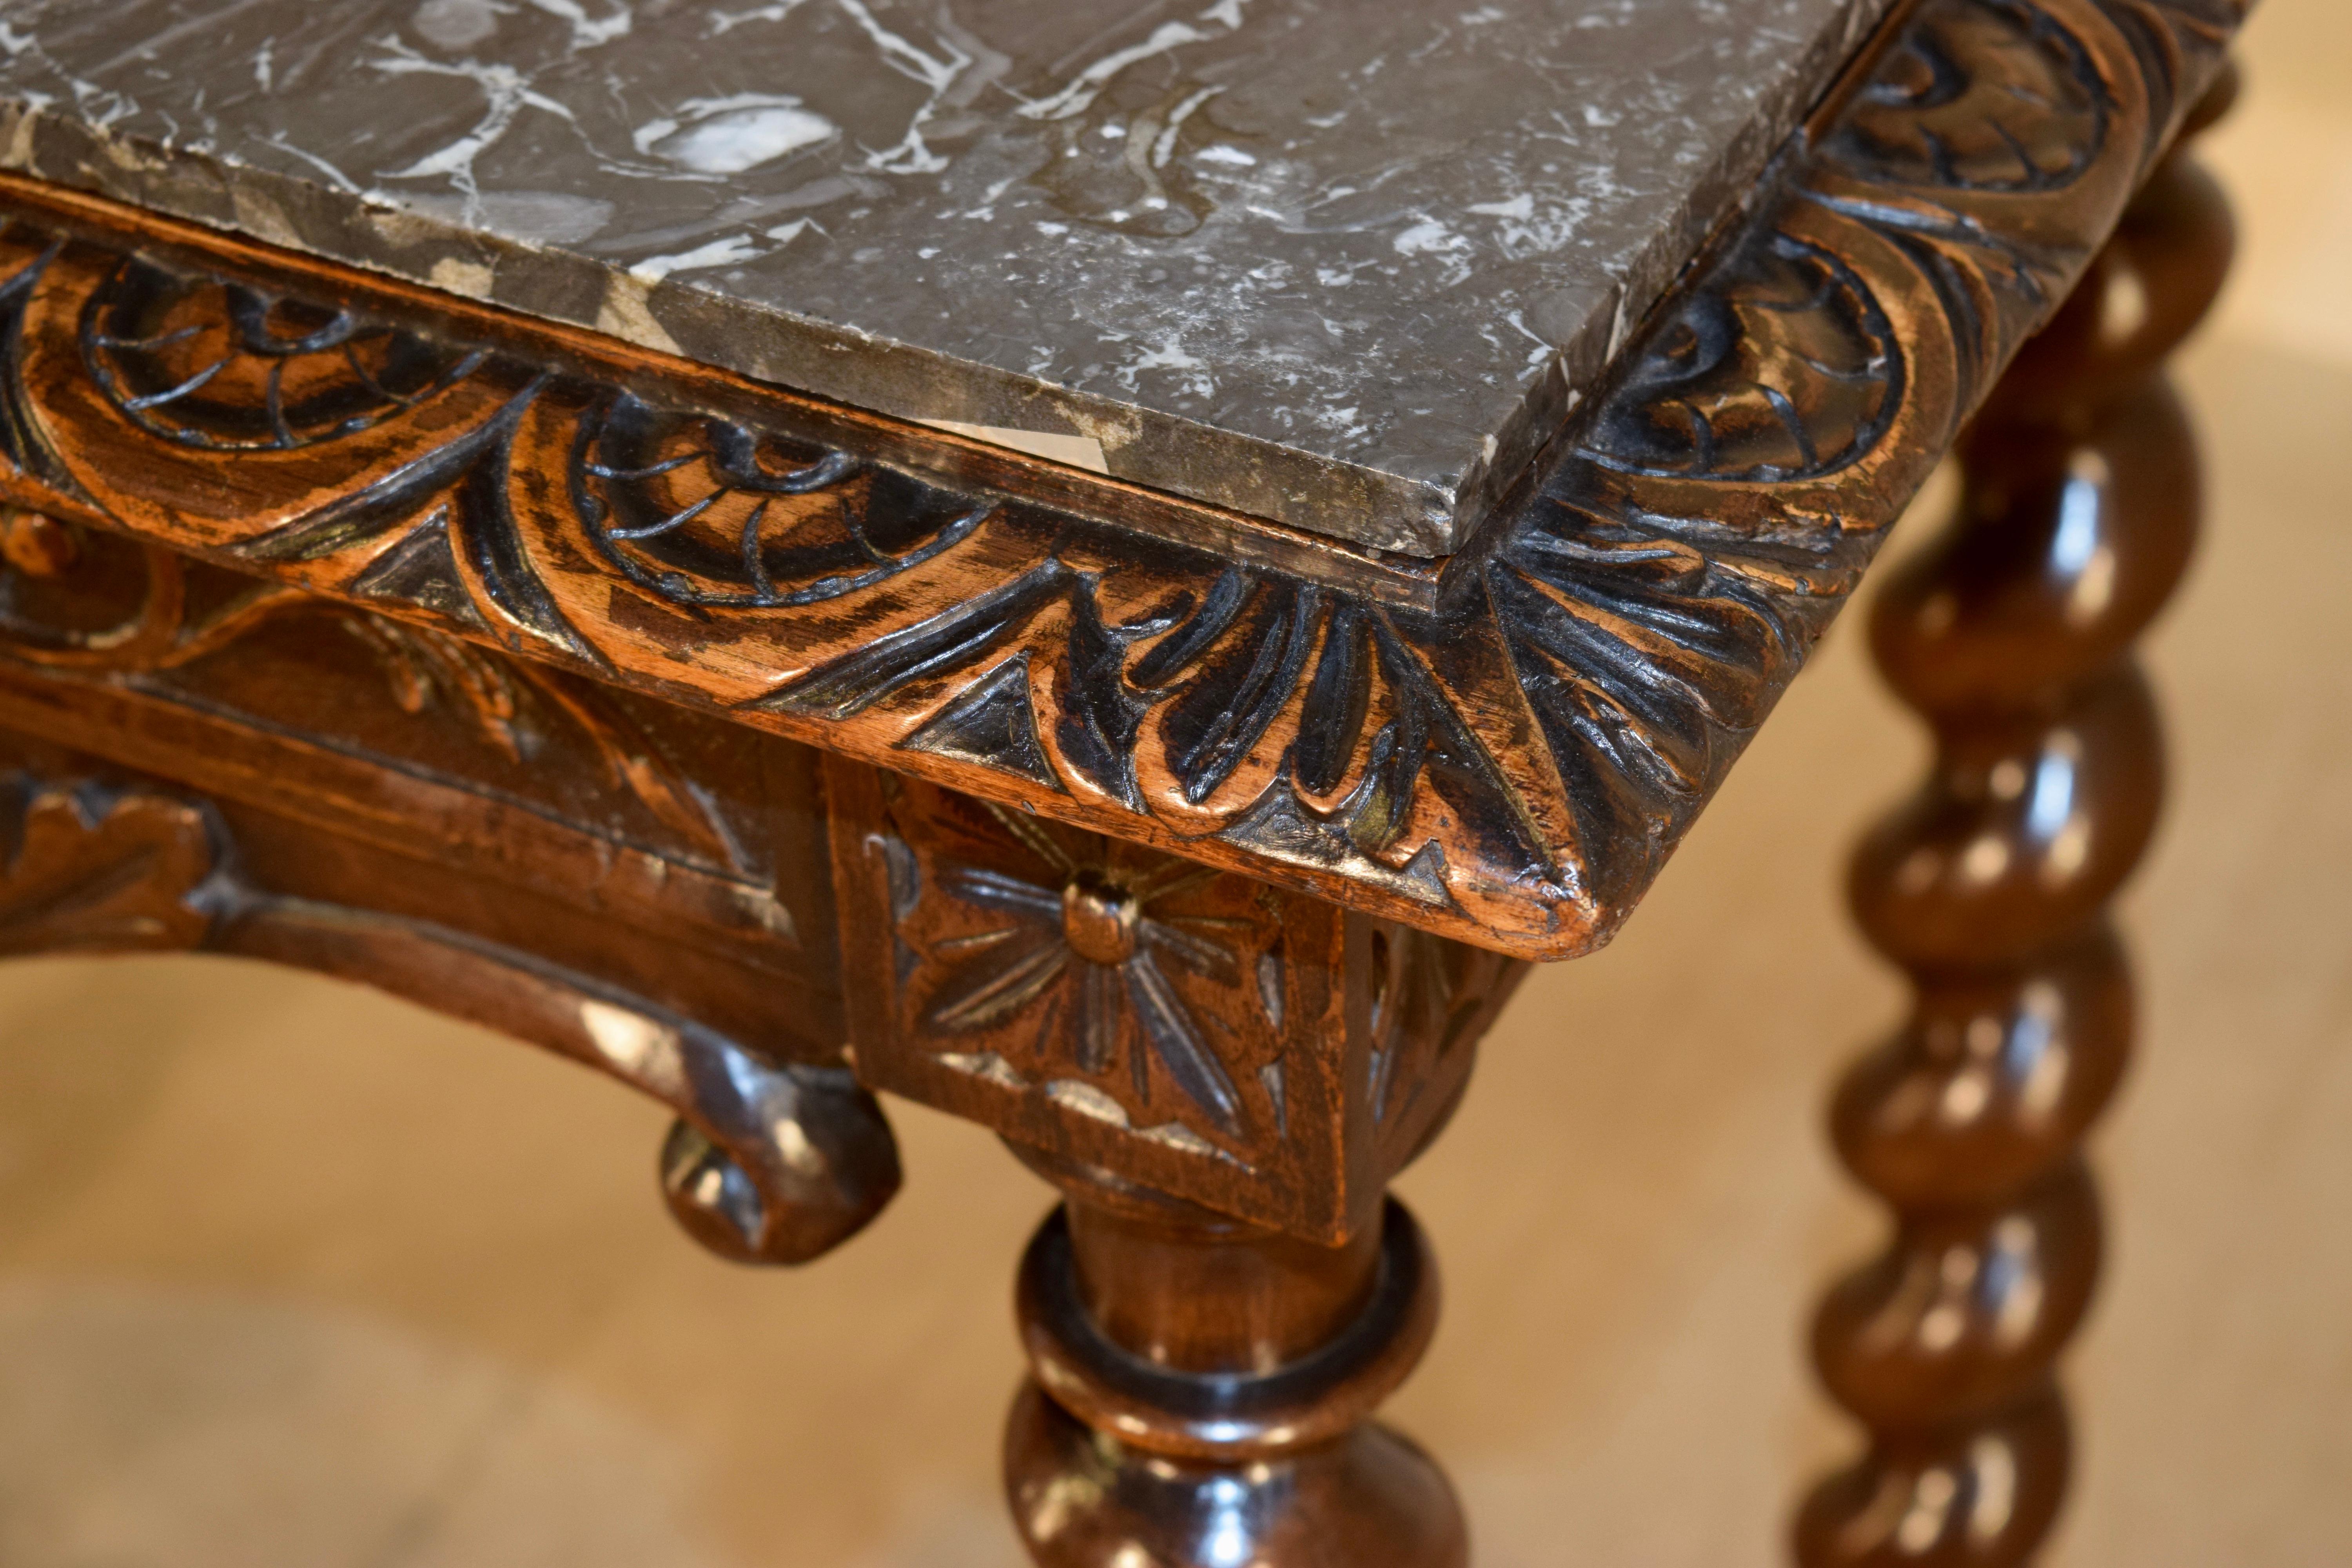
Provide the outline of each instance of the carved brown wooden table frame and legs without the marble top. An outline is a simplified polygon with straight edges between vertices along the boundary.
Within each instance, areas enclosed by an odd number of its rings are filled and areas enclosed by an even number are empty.
[[[1042,1563],[1458,1568],[1371,1425],[1437,1314],[1388,1180],[1517,959],[1656,877],[2241,12],[1907,7],[1437,571],[5,181],[0,945],[548,1044],[677,1110],[663,1190],[734,1258],[889,1197],[866,1086],[976,1119],[1068,1197],[1007,1436]],[[2197,190],[2157,174],[1882,614],[1943,757],[1858,870],[1922,1006],[1842,1100],[1903,1227],[1823,1312],[1875,1446],[1806,1561],[2018,1561],[2063,1483]]]

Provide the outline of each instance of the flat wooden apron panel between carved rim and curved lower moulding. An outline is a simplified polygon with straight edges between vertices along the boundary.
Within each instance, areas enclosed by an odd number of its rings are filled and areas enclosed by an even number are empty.
[[[0,512],[0,555],[7,729],[332,835],[289,891],[844,1060],[814,752],[108,531]]]

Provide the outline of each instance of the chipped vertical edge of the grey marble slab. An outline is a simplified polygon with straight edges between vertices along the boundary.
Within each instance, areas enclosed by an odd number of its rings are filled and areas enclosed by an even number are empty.
[[[329,190],[167,141],[115,136],[21,96],[0,96],[0,169],[520,315],[586,327],[797,393],[978,435],[1047,461],[1098,451],[1101,465],[1091,456],[1077,465],[1305,534],[1446,557],[1534,468],[1722,216],[1745,207],[1745,195],[1729,197],[1752,186],[1773,153],[1802,134],[1804,113],[1835,82],[1839,61],[1851,59],[1900,2],[1856,5],[1842,31],[1823,33],[1813,52],[1780,78],[1776,96],[1757,106],[1748,129],[1696,181],[1672,221],[1632,259],[1583,329],[1559,346],[1503,428],[1489,433],[1479,451],[1465,451],[1454,484],[1075,393],[691,282],[647,280],[623,266],[466,228],[358,190]],[[1465,444],[1470,440],[1477,437],[1465,437]]]

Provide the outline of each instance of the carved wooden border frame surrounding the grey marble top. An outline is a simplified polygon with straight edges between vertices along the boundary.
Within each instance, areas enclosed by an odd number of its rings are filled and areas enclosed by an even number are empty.
[[[1566,957],[1646,889],[2241,9],[1924,0],[1439,581],[21,181],[5,487]]]

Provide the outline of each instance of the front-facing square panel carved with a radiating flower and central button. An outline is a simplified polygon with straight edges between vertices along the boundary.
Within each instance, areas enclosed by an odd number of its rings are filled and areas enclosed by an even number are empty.
[[[1282,1143],[1279,893],[1011,806],[891,785],[873,853],[891,882],[908,1037],[978,1084],[1200,1159],[1251,1166]]]

